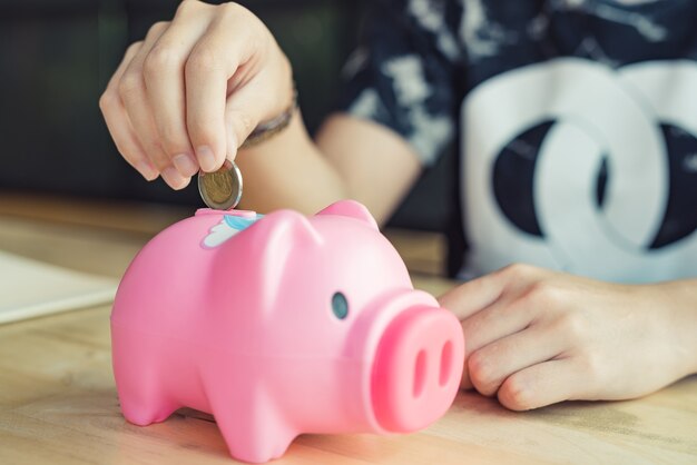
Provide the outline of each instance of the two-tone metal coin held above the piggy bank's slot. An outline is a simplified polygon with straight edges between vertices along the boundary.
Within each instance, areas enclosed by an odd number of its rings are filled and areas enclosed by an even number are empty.
[[[242,172],[234,161],[225,160],[214,172],[198,172],[198,192],[209,208],[229,210],[242,199]]]

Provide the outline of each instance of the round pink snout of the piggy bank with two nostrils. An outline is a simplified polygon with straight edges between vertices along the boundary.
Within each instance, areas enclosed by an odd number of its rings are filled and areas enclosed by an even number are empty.
[[[451,406],[462,377],[464,337],[448,310],[412,307],[387,326],[375,355],[372,398],[381,426],[421,429]]]

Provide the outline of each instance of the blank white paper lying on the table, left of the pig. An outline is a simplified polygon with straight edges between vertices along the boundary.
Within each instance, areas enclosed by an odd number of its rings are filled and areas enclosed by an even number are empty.
[[[109,304],[116,279],[0,250],[0,324]]]

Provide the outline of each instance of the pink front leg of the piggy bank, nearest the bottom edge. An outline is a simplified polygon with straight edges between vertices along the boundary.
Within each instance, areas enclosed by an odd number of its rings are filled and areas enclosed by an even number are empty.
[[[230,455],[251,463],[281,457],[297,432],[281,417],[262,383],[239,375],[227,378],[216,374],[206,392]]]

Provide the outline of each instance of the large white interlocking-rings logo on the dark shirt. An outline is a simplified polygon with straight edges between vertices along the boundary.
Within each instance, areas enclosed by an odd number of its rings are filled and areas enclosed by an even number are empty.
[[[668,202],[660,123],[697,137],[697,65],[652,61],[612,70],[561,58],[497,76],[462,107],[463,207],[474,274],[512,261],[600,279],[654,281],[697,274],[697,235],[649,246]],[[544,238],[521,234],[491,186],[495,157],[518,135],[557,121],[539,149],[534,209]],[[611,179],[595,201],[607,156]],[[697,206],[696,206],[697,208]]]

